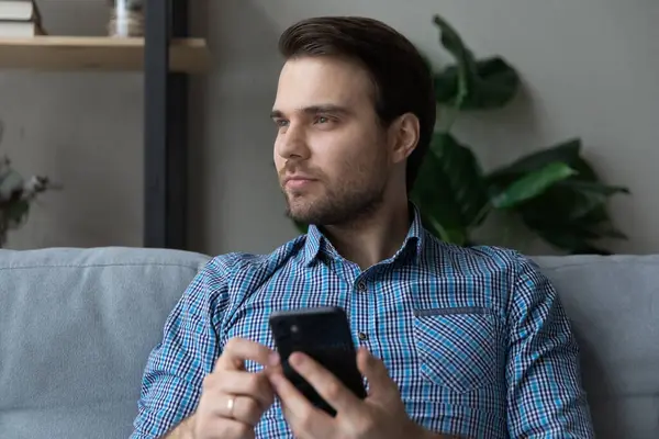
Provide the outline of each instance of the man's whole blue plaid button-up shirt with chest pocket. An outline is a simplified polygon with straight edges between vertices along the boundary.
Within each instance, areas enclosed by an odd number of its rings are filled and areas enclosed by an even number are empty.
[[[325,305],[346,311],[355,344],[384,361],[409,416],[429,430],[593,437],[578,347],[549,281],[512,250],[438,241],[415,213],[398,254],[366,271],[313,226],[269,256],[213,258],[148,358],[132,438],[160,437],[194,412],[230,338],[273,348],[272,311]],[[292,437],[277,399],[256,437]]]

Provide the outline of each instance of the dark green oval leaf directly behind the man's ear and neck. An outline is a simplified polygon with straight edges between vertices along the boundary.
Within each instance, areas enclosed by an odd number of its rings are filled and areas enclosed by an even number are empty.
[[[482,171],[466,146],[436,133],[411,193],[425,224],[442,239],[465,244],[469,228],[482,221],[488,194]]]

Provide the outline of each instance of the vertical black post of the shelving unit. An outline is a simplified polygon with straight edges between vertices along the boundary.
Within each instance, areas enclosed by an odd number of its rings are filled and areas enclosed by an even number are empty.
[[[145,15],[144,246],[185,249],[188,77],[169,71],[169,44],[188,36],[188,1],[147,0]]]

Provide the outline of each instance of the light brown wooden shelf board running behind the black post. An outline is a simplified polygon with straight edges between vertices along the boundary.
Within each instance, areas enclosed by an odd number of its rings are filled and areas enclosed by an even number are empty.
[[[172,71],[202,72],[209,66],[203,38],[172,40]],[[0,68],[135,71],[144,68],[144,38],[35,36],[0,38]]]

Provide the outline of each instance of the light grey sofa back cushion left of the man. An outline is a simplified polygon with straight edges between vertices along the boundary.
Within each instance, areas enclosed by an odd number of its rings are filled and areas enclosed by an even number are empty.
[[[0,437],[126,438],[192,252],[0,250]]]

